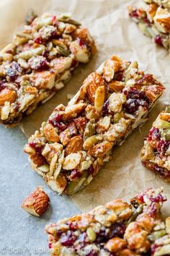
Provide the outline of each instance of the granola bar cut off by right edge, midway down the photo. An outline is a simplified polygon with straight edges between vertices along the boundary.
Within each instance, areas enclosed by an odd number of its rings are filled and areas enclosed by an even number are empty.
[[[170,107],[153,122],[140,158],[146,168],[170,182]]]

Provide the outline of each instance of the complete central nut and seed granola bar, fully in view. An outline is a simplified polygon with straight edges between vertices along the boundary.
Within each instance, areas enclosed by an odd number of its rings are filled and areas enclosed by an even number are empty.
[[[163,91],[136,61],[112,56],[30,137],[24,151],[32,167],[54,191],[79,191],[109,160],[113,146],[146,121]]]

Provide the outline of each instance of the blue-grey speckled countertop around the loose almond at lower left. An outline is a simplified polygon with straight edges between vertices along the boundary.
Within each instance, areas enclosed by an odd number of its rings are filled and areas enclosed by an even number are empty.
[[[0,127],[0,255],[49,255],[45,225],[80,213],[66,196],[58,196],[31,170],[22,152],[27,142],[19,127]],[[50,197],[50,208],[41,218],[30,216],[21,202],[38,185]],[[53,205],[53,207],[52,207]]]

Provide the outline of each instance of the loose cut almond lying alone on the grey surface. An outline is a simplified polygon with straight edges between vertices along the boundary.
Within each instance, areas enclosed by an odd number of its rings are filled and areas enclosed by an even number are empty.
[[[40,217],[47,210],[49,202],[50,198],[39,186],[24,199],[21,207],[27,213]]]

